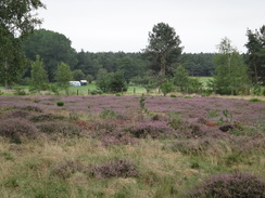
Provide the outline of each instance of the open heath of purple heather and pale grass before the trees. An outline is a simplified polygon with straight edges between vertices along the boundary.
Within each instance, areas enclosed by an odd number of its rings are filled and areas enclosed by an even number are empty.
[[[264,197],[264,123],[243,100],[0,96],[0,197],[203,197],[216,174]]]

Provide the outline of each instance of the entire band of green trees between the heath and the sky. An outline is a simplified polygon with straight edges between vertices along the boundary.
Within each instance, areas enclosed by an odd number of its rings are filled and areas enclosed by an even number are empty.
[[[239,54],[228,38],[222,39],[218,53],[182,53],[180,36],[165,23],[153,26],[141,52],[76,52],[64,35],[34,30],[41,21],[31,11],[41,8],[45,5],[39,0],[0,2],[0,83],[5,87],[15,82],[36,84],[34,79],[40,78],[36,74],[42,74],[47,83],[60,84],[60,67],[64,67],[62,72],[71,72],[64,74],[67,80],[96,80],[105,92],[121,90],[115,88],[119,83],[125,89],[130,82],[147,90],[171,90],[173,85],[197,90],[200,83],[187,76],[213,76],[210,87],[222,94],[239,94],[253,84],[265,84],[264,25],[247,31],[247,54]]]

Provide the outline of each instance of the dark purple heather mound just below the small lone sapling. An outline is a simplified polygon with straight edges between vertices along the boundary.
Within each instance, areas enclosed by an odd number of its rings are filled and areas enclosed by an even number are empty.
[[[173,130],[165,121],[140,122],[128,128],[128,132],[137,138],[161,138],[173,135]]]

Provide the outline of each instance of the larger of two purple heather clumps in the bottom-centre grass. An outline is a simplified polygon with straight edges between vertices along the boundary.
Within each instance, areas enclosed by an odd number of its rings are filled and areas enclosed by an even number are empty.
[[[92,169],[100,179],[132,177],[138,175],[137,167],[129,160],[116,159]]]

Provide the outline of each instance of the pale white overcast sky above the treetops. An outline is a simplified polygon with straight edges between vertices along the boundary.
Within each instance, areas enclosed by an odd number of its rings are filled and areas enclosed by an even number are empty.
[[[265,25],[265,0],[41,0],[41,28],[65,35],[72,47],[89,52],[140,52],[148,34],[166,23],[185,52],[216,52],[229,38],[245,52],[247,29]]]

